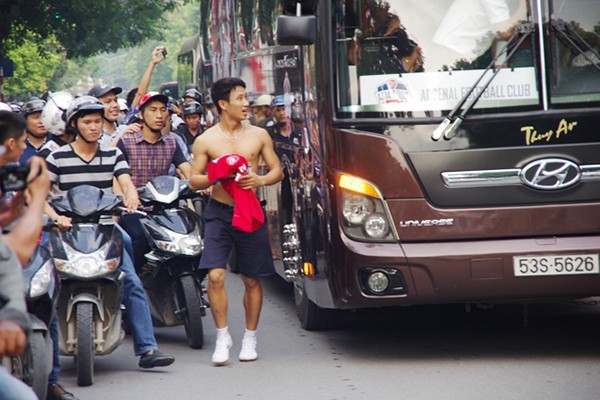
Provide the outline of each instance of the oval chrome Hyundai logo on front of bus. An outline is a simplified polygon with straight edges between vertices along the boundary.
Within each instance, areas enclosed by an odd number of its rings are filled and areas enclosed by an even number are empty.
[[[527,186],[541,190],[559,190],[581,180],[581,169],[563,158],[542,158],[525,165],[519,173]]]

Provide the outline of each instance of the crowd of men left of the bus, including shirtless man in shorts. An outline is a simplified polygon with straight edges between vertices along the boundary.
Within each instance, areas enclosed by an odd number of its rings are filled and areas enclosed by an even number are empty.
[[[212,361],[215,365],[226,363],[233,343],[224,283],[225,267],[234,247],[236,267],[245,285],[246,330],[239,359],[257,359],[260,278],[274,273],[272,238],[266,224],[247,231],[232,227],[234,208],[245,202],[236,201],[236,195],[225,184],[235,173],[211,180],[207,171],[209,164],[217,163],[222,156],[239,156],[245,173],[236,182],[241,189],[256,193],[258,187],[283,179],[281,154],[275,151],[273,142],[299,144],[300,133],[286,116],[283,96],[264,94],[250,104],[240,79],[221,79],[206,96],[190,85],[180,102],[148,91],[152,72],[164,58],[161,47],[153,50],[139,85],[126,98],[119,98],[123,94],[120,87],[97,84],[79,97],[56,92],[22,104],[0,103],[0,165],[30,166],[25,190],[12,196],[4,190],[1,193],[0,225],[12,227],[0,236],[0,295],[6,303],[0,310],[0,357],[21,353],[30,329],[20,271],[37,246],[42,214],[55,221],[58,229],[71,226],[69,218],[49,205],[48,194],[64,194],[87,184],[121,194],[125,207],[133,211],[139,205],[138,188],[154,177],[176,174],[189,180],[192,189],[210,193],[204,210],[205,247],[199,268],[208,270],[208,299],[217,327]],[[264,167],[260,175],[259,165]],[[158,348],[148,302],[136,274],[150,251],[139,214],[124,212],[115,226],[123,234],[123,304],[131,321],[134,353],[141,368],[168,366],[175,359]],[[47,244],[45,234],[42,244]],[[49,331],[54,357],[47,399],[76,399],[59,383],[56,313]],[[29,388],[0,367],[0,398],[35,398],[32,395]]]

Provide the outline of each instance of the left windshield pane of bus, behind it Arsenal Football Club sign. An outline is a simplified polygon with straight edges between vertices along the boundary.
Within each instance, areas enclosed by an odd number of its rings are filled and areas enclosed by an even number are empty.
[[[536,38],[519,40],[531,18],[526,0],[337,0],[335,8],[340,116],[443,115],[490,64],[501,71],[474,113],[540,107]]]

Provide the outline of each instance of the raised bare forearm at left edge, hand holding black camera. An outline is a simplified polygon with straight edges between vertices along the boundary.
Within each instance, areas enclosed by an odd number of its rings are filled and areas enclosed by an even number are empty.
[[[50,191],[50,178],[46,163],[42,158],[31,157],[31,170],[27,177],[29,204],[15,227],[6,234],[6,243],[15,251],[21,265],[25,265],[33,255],[37,239],[42,231],[42,214]]]

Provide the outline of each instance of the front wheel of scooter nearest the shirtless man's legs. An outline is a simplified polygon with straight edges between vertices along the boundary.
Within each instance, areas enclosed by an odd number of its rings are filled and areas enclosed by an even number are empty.
[[[188,339],[188,346],[201,349],[204,345],[204,330],[202,328],[202,292],[191,275],[180,278],[181,294],[185,304],[183,325]]]

